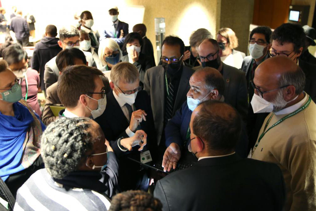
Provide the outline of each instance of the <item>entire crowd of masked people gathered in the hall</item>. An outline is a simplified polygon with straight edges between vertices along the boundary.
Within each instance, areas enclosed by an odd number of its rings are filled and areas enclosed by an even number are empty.
[[[118,15],[100,33],[89,11],[48,25],[31,58],[12,18],[18,43],[0,47],[9,210],[316,210],[315,29],[258,26],[249,56],[230,28],[216,40],[197,29],[190,46],[169,35],[156,66],[146,26],[128,33]]]

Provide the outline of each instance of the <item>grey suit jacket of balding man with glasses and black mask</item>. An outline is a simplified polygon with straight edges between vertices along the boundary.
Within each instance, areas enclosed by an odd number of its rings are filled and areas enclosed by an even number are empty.
[[[200,68],[202,68],[201,65],[194,67],[193,70]],[[237,109],[241,118],[246,122],[249,105],[245,73],[223,63],[223,78],[225,83],[224,102]]]

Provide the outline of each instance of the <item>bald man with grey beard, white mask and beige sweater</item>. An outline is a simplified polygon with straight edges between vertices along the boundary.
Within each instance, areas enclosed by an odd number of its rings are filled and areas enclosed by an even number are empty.
[[[284,210],[316,210],[316,105],[303,91],[305,74],[292,59],[262,62],[252,82],[254,113],[270,112],[250,157],[277,164],[284,176]]]

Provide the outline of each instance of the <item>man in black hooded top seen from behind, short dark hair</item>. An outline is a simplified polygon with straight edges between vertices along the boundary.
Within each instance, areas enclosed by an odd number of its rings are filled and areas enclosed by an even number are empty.
[[[43,37],[40,42],[36,43],[31,67],[40,73],[40,89],[45,90],[44,83],[44,70],[45,64],[55,57],[62,48],[58,45],[57,28],[54,25],[48,25],[45,29],[45,37]]]

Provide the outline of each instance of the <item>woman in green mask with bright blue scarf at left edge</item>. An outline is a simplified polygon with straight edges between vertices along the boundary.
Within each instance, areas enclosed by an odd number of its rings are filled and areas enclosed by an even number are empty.
[[[45,125],[22,99],[22,79],[0,60],[0,177],[15,196],[36,170],[43,168],[40,136]]]

